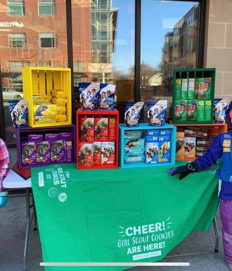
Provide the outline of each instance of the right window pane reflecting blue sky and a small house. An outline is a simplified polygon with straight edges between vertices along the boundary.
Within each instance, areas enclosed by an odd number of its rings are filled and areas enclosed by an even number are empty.
[[[172,101],[173,70],[196,68],[199,1],[142,0],[140,99]]]

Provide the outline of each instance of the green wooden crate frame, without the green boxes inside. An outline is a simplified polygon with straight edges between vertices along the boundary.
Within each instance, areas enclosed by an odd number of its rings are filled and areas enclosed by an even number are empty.
[[[173,107],[172,107],[172,115],[173,115],[173,124],[212,124],[213,123],[213,104],[214,104],[214,93],[215,93],[215,76],[216,69],[215,68],[202,68],[202,69],[177,69],[173,71]],[[176,91],[176,79],[187,79],[187,78],[211,78],[211,91],[210,91],[210,99],[211,100],[211,121],[198,121],[198,120],[176,120],[174,118],[175,111],[175,101],[176,100],[185,100],[177,98]],[[203,99],[203,98],[202,98]],[[196,100],[202,100],[196,99]],[[187,99],[186,99],[187,100]],[[205,99],[203,99],[205,100]]]

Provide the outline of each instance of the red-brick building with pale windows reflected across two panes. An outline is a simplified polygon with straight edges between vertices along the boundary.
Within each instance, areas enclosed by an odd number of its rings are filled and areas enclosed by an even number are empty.
[[[2,86],[22,91],[22,67],[68,67],[64,0],[0,0]],[[112,83],[118,9],[111,0],[72,0],[74,85]]]

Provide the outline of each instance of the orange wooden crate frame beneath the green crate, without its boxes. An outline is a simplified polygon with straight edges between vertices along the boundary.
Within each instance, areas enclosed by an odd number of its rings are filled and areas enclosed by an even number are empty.
[[[228,131],[228,127],[226,123],[214,123],[214,124],[173,124],[172,121],[169,121],[169,123],[171,125],[176,126],[177,128],[182,128],[183,130],[185,129],[185,127],[202,127],[202,128],[206,128],[209,130],[210,134],[223,134],[226,133]],[[186,159],[182,159],[182,160],[178,160],[178,161],[195,161],[197,159],[197,157],[193,157],[193,158],[186,158]]]

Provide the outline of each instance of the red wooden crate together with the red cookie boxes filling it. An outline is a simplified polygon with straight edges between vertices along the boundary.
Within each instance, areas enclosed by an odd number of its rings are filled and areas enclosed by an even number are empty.
[[[118,111],[77,110],[77,168],[118,167]]]

